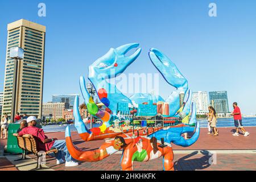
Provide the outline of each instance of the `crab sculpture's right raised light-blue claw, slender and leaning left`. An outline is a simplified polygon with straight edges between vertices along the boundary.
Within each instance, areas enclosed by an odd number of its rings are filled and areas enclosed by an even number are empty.
[[[177,69],[176,65],[158,49],[151,48],[149,56],[156,69],[158,69],[168,84],[177,89],[166,100],[170,108],[169,115],[175,115],[180,108],[180,93],[185,94],[188,90],[188,81]]]

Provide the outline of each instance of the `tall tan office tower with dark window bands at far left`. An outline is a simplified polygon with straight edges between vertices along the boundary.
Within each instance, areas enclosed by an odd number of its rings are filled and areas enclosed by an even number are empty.
[[[2,114],[10,116],[13,109],[21,115],[41,118],[45,36],[46,27],[38,23],[20,19],[8,24]],[[24,59],[18,61],[17,69],[14,68],[16,60],[9,57],[11,47],[24,49]],[[15,93],[14,69],[17,73]]]

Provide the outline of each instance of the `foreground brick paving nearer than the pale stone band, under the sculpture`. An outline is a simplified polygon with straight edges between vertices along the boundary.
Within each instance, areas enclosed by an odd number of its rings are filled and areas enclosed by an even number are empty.
[[[34,156],[33,156],[34,157]],[[55,158],[47,159],[46,165],[57,171],[119,171],[121,154],[114,154],[100,162],[81,162],[77,167],[65,167],[64,164],[56,165]],[[191,154],[175,154],[174,168],[177,171],[195,170],[256,170],[255,154],[217,154],[214,163],[209,164],[211,156],[204,152],[192,152]],[[211,161],[211,160],[210,160]],[[134,162],[134,170],[162,171],[162,158],[150,160],[149,162]]]

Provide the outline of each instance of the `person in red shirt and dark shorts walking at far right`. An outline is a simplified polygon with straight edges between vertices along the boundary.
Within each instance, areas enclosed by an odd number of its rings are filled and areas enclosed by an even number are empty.
[[[231,113],[234,117],[234,124],[236,126],[236,133],[233,134],[233,136],[239,136],[238,130],[242,130],[243,136],[247,137],[250,133],[245,130],[245,128],[242,125],[242,114],[240,111],[240,108],[237,106],[237,102],[233,103],[234,111]]]

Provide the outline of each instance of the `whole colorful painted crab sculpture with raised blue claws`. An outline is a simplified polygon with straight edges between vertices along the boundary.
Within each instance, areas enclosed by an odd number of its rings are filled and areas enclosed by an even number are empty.
[[[73,114],[75,117],[75,127],[80,137],[85,140],[98,140],[112,138],[106,141],[100,148],[93,151],[81,151],[73,145],[71,133],[67,126],[65,132],[68,151],[71,156],[84,162],[96,162],[122,150],[121,166],[123,170],[132,170],[134,161],[148,161],[163,156],[163,169],[173,170],[174,164],[173,152],[171,143],[179,146],[187,147],[195,143],[199,138],[200,127],[196,123],[195,104],[191,102],[191,91],[188,90],[188,81],[177,69],[167,56],[158,49],[151,48],[149,52],[150,59],[158,71],[162,74],[168,84],[174,86],[176,90],[171,93],[166,102],[169,105],[169,116],[177,114],[184,115],[187,118],[187,123],[167,128],[151,128],[144,132],[143,129],[137,130],[134,135],[134,130],[126,130],[120,133],[115,133],[109,130],[112,126],[111,122],[117,118],[117,104],[129,103],[131,100],[124,96],[115,85],[110,84],[106,80],[116,77],[137,59],[141,53],[141,48],[137,49],[132,55],[125,54],[132,48],[137,48],[138,43],[131,43],[111,48],[106,55],[100,57],[92,65],[89,66],[89,80],[92,82],[97,91],[100,101],[108,107],[111,112],[98,108],[93,98],[86,90],[84,77],[80,77],[80,89],[84,97],[86,106],[90,114],[102,120],[100,127],[87,129],[79,114],[79,98],[76,97]],[[180,93],[187,95],[187,101],[180,107]],[[190,125],[195,124],[196,127]],[[184,139],[181,134],[194,132],[191,139]]]

